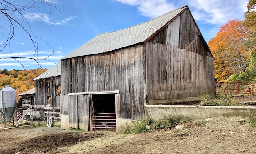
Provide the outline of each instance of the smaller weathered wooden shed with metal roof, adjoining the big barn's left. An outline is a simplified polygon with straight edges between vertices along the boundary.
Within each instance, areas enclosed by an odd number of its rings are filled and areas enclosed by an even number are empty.
[[[61,62],[34,78],[36,83],[35,103],[31,109],[46,116],[59,119],[61,94]]]

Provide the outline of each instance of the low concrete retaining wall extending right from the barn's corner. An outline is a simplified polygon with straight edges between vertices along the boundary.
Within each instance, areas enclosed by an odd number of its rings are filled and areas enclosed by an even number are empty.
[[[185,105],[145,105],[146,115],[153,122],[164,115],[188,115],[192,120],[218,116],[247,116],[256,118],[255,106],[185,106]]]

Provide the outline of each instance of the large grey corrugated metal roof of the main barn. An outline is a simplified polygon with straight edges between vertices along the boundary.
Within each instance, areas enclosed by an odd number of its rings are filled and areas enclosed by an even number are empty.
[[[126,29],[98,34],[81,47],[61,58],[61,60],[109,52],[144,42],[186,8],[188,7],[180,7],[162,16]]]

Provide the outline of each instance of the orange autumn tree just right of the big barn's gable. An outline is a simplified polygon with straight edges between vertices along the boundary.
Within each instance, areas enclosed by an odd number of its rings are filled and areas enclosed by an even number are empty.
[[[221,26],[216,37],[208,42],[214,56],[215,76],[220,81],[227,80],[233,74],[242,73],[249,65],[246,40],[243,21],[235,19]]]

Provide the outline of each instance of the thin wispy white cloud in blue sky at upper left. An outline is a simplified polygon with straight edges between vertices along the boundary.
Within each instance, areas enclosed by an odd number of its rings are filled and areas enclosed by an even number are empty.
[[[65,18],[64,20],[61,20],[61,21],[51,21],[51,18],[49,17],[49,15],[44,14],[44,13],[38,13],[38,12],[26,13],[23,16],[29,22],[39,21],[39,22],[45,22],[49,25],[64,25],[68,21],[70,21],[76,17],[76,16],[71,16],[71,17]]]

